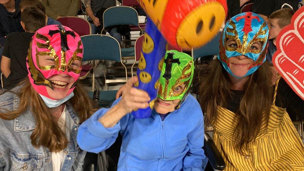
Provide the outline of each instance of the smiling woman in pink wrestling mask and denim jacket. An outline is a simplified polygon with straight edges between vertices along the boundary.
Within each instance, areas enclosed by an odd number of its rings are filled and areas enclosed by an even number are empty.
[[[82,170],[77,130],[94,112],[76,84],[82,55],[80,37],[70,28],[36,31],[28,78],[0,95],[0,170]]]

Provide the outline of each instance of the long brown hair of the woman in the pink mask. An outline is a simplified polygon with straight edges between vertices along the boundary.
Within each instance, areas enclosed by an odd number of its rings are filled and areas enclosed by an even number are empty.
[[[64,131],[59,128],[50,109],[31,86],[29,79],[26,78],[21,84],[23,87],[17,93],[20,99],[19,107],[14,111],[0,112],[0,118],[4,120],[15,119],[29,108],[36,119],[36,128],[31,134],[32,145],[36,148],[47,147],[51,152],[59,152],[65,149],[68,145],[68,139]],[[74,112],[79,116],[80,122],[83,122],[96,110],[93,109],[92,100],[81,86],[77,85],[73,92],[74,97],[70,101]]]

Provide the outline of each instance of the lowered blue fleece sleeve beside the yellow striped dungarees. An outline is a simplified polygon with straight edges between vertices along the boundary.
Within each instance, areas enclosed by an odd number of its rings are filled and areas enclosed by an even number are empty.
[[[187,136],[189,151],[183,159],[183,170],[205,169],[208,159],[202,149],[204,146],[204,136],[204,120],[202,119],[196,128]]]

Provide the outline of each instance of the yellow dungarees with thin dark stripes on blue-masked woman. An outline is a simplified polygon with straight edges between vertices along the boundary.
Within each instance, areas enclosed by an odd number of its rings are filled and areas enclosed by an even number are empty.
[[[275,106],[277,80],[268,127],[266,121],[255,141],[252,153],[242,155],[234,148],[235,113],[218,107],[218,118],[212,124],[213,140],[226,162],[225,170],[301,170],[304,171],[304,146],[286,109]]]

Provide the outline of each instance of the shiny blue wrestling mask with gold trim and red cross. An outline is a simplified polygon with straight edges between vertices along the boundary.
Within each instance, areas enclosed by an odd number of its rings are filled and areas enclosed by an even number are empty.
[[[227,21],[221,33],[220,52],[217,55],[226,71],[236,78],[254,73],[266,60],[268,32],[266,21],[253,12],[240,13]],[[225,44],[228,39],[235,40],[237,47],[228,47]],[[262,42],[262,49],[251,49],[252,44],[257,41]],[[231,72],[228,59],[240,55],[252,59],[254,63],[244,76],[237,77]]]

